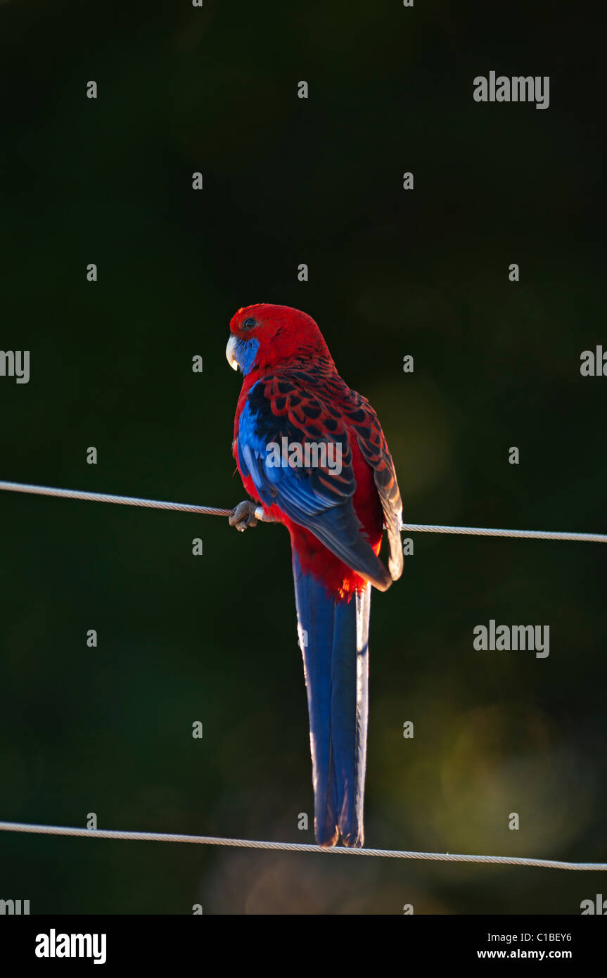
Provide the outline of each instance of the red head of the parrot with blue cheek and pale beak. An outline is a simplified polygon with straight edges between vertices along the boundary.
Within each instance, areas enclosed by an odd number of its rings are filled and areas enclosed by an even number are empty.
[[[267,302],[244,306],[232,318],[226,356],[231,367],[243,374],[276,369],[310,360],[334,367],[323,334],[311,316],[290,306]]]

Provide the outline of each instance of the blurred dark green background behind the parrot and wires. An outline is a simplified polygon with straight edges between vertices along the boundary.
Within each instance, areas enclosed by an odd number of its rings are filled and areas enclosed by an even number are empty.
[[[0,348],[31,379],[0,378],[0,478],[236,505],[224,349],[270,301],[369,397],[406,520],[604,532],[603,64],[580,5],[2,3]],[[491,69],[549,74],[549,109],[474,103]],[[605,549],[414,547],[373,594],[367,844],[607,859]],[[2,494],[0,568],[1,819],[312,841],[281,527]],[[549,657],[475,651],[490,618]],[[579,913],[601,878],[0,833],[33,913]]]

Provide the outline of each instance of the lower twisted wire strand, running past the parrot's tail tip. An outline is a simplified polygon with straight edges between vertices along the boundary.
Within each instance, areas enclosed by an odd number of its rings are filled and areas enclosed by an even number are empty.
[[[26,822],[0,822],[0,831],[42,835],[77,835],[126,842],[188,842],[208,846],[243,849],[273,849],[281,852],[325,853],[335,856],[379,856],[385,859],[431,860],[437,863],[493,863],[499,866],[529,866],[541,869],[607,870],[607,863],[564,863],[558,860],[529,859],[523,856],[466,856],[458,853],[418,853],[398,849],[348,849],[344,846],[307,845],[300,842],[264,842],[259,839],[224,839],[213,835],[179,835],[170,832],[130,832],[108,828],[74,828],[66,825],[35,825]]]

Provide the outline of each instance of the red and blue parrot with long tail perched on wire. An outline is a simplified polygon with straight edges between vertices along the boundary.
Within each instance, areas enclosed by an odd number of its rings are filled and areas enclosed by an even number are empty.
[[[233,455],[240,531],[282,523],[291,544],[320,846],[365,843],[371,586],[403,572],[402,502],[369,401],[337,373],[316,322],[284,305],[238,309],[226,347],[243,375]],[[383,530],[388,569],[379,559]]]

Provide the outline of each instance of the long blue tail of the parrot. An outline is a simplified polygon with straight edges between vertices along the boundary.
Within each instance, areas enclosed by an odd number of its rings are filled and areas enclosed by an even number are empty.
[[[314,830],[322,846],[365,841],[363,804],[369,712],[370,584],[349,602],[301,570],[293,553],[314,784]]]

